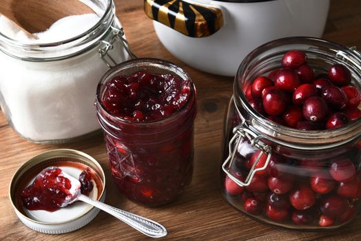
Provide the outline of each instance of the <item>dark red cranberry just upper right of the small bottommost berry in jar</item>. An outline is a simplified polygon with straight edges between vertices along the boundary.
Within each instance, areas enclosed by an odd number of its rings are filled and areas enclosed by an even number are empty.
[[[322,213],[330,218],[338,218],[349,207],[346,198],[339,196],[326,196],[320,202]]]

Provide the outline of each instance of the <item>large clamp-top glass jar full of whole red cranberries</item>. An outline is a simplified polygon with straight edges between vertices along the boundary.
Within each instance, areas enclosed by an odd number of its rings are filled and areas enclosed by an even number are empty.
[[[225,121],[220,184],[253,218],[335,229],[361,203],[361,55],[305,37],[260,46],[241,63]]]

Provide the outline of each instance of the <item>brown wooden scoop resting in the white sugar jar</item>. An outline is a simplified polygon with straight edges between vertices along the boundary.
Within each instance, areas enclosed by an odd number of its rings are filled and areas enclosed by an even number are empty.
[[[0,14],[29,36],[43,32],[63,17],[94,13],[78,0],[0,0]]]

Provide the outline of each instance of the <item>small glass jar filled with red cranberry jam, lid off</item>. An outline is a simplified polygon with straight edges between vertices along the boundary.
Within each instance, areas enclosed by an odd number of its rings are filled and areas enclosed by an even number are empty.
[[[96,112],[112,176],[134,202],[164,205],[183,193],[193,173],[196,90],[180,67],[135,59],[99,83]]]

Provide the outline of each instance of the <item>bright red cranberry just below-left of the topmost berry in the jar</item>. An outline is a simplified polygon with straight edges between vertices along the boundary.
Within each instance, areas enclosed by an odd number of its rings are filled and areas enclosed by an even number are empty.
[[[300,82],[300,76],[293,70],[279,70],[274,85],[285,92],[293,92]]]

